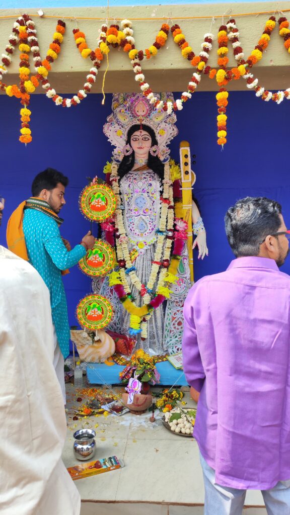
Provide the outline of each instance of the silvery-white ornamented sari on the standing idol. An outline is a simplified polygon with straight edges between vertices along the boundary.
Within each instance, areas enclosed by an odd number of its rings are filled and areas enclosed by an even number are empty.
[[[129,171],[120,180],[120,195],[123,207],[123,219],[128,238],[128,249],[138,255],[133,265],[136,274],[143,284],[147,284],[154,253],[156,249],[156,230],[160,218],[160,179],[150,169]],[[137,249],[135,251],[134,249]],[[132,258],[133,260],[133,258]],[[143,349],[151,355],[174,353],[181,350],[183,333],[182,308],[187,291],[190,287],[190,273],[186,245],[178,268],[178,281],[171,285],[171,296],[167,302],[160,305],[148,321],[148,336],[142,339],[137,335],[136,350]],[[153,289],[156,288],[156,283]],[[127,334],[130,326],[130,314],[124,309],[120,300],[109,287],[105,278],[100,289],[100,282],[93,281],[93,290],[108,298],[114,306],[114,318],[108,329],[121,334]],[[131,291],[138,307],[141,297],[131,284]]]

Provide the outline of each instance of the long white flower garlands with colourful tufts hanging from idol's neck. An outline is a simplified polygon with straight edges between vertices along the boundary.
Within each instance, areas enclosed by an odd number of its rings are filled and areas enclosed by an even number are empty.
[[[110,176],[112,190],[117,198],[117,209],[115,212],[116,227],[116,251],[118,270],[114,270],[109,276],[109,285],[114,290],[122,302],[125,310],[130,313],[131,335],[141,333],[141,338],[148,336],[147,325],[153,311],[170,297],[172,290],[169,289],[171,283],[178,279],[177,270],[181,260],[181,253],[187,233],[177,224],[174,230],[174,205],[173,205],[173,185],[170,177],[169,163],[164,167],[163,195],[161,197],[161,210],[159,228],[156,230],[157,243],[154,260],[151,265],[150,277],[147,285],[141,283],[137,277],[136,268],[132,263],[128,249],[128,238],[126,236],[123,206],[120,195],[118,165],[112,164]],[[175,220],[176,221],[176,220]],[[174,241],[172,255],[171,247]],[[134,302],[130,282],[141,296],[141,306],[138,307]],[[154,284],[157,281],[156,290]]]

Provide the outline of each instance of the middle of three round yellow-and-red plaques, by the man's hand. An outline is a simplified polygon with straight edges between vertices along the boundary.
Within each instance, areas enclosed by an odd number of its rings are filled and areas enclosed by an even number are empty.
[[[87,251],[78,264],[87,276],[106,276],[114,266],[114,251],[108,243],[96,239],[93,248]]]

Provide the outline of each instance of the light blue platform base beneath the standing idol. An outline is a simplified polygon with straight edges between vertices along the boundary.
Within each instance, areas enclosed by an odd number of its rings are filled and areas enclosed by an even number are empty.
[[[87,380],[89,384],[103,385],[120,383],[119,373],[125,367],[121,365],[105,365],[104,363],[89,363],[87,366]],[[160,374],[160,385],[173,384],[176,386],[187,386],[184,372],[176,370],[168,361],[156,364],[156,368]]]

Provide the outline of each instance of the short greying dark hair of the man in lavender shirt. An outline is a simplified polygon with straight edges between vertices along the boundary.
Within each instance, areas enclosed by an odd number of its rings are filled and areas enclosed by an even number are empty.
[[[266,197],[242,198],[228,209],[225,233],[236,258],[259,255],[263,239],[279,231],[281,213],[281,205]]]

